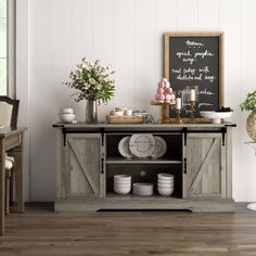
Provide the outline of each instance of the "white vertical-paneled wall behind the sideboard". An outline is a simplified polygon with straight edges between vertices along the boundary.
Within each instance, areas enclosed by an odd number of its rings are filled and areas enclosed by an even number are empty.
[[[69,71],[82,56],[100,59],[116,69],[116,95],[108,105],[100,106],[101,120],[116,105],[145,108],[157,117],[157,108],[149,102],[163,76],[163,34],[171,30],[225,31],[225,101],[234,110],[232,120],[238,124],[233,141],[233,195],[235,201],[256,201],[256,158],[253,150],[244,145],[248,140],[247,113],[239,110],[245,94],[255,89],[256,1],[24,2],[27,10],[17,4],[18,22],[24,24],[17,27],[17,38],[23,39],[24,29],[28,36],[25,44],[17,44],[17,95],[25,103],[21,123],[29,127],[26,159],[30,175],[26,174],[26,187],[30,179],[30,201],[54,200],[55,142],[51,125],[57,120],[59,108],[72,106],[77,118],[85,119],[85,102],[75,103],[69,98],[72,90],[61,85],[68,79]],[[23,65],[23,61],[28,65]]]

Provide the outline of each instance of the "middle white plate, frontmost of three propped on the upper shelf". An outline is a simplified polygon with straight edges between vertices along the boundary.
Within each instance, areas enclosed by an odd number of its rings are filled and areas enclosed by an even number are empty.
[[[133,155],[141,158],[149,157],[155,151],[155,138],[152,135],[133,135],[129,148]]]

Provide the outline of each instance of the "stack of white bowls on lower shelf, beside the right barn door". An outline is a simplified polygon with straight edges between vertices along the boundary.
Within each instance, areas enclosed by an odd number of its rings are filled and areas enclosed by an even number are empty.
[[[157,191],[163,196],[169,196],[174,193],[174,175],[158,174],[157,175]]]

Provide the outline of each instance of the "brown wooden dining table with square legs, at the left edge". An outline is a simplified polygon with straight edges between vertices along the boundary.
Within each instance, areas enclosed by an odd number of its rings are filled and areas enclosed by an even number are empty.
[[[11,151],[15,161],[17,213],[24,213],[23,197],[23,141],[27,128],[0,128],[0,234],[4,234],[5,152]]]

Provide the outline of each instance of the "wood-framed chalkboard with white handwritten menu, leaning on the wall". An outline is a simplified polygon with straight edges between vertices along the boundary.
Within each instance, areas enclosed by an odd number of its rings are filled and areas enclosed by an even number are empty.
[[[165,34],[165,77],[176,92],[199,86],[196,117],[223,104],[222,41],[222,33]]]

